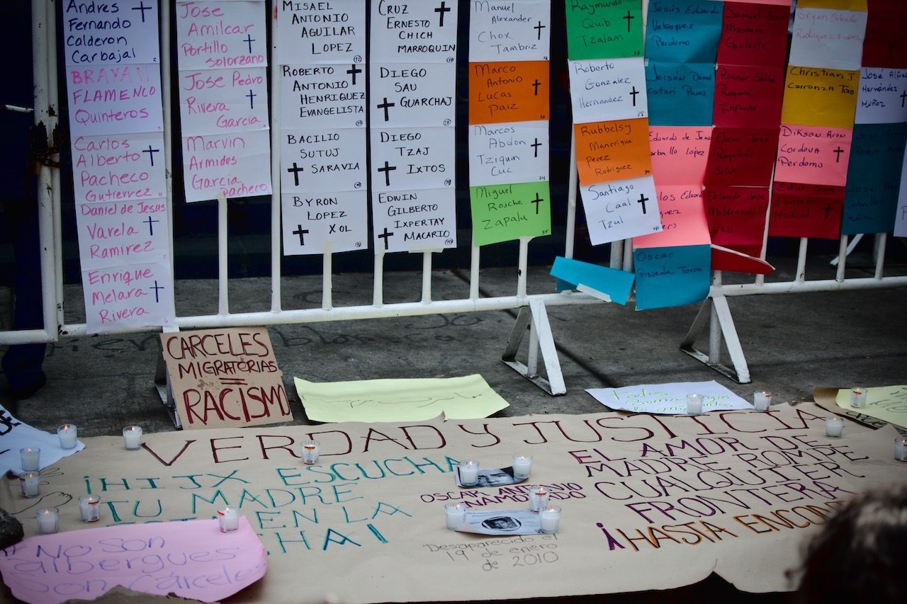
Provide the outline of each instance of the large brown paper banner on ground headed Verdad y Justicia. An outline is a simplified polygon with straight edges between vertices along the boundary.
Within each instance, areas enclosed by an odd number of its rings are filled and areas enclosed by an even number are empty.
[[[98,525],[235,506],[269,553],[265,577],[235,602],[541,598],[676,588],[713,570],[746,591],[785,590],[803,541],[844,501],[907,483],[891,429],[848,423],[828,438],[825,414],[807,403],[695,417],[256,427],[148,434],[136,452],[118,437],[87,438],[42,472],[43,500],[6,479],[0,505],[29,535],[28,506],[58,506],[62,531],[86,527],[69,499],[89,490],[102,499]],[[299,459],[308,438],[320,443],[314,465]],[[532,454],[528,482],[454,485],[458,460],[503,467],[513,453]],[[556,534],[445,528],[445,503],[525,509],[532,483],[562,508]]]

